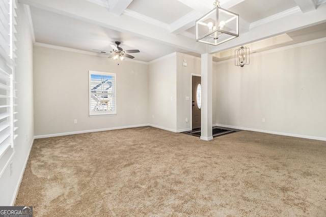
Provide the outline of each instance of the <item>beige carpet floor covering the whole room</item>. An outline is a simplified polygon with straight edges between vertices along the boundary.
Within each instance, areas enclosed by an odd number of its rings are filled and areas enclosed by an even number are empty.
[[[15,205],[34,216],[326,216],[326,142],[152,127],[36,139]]]

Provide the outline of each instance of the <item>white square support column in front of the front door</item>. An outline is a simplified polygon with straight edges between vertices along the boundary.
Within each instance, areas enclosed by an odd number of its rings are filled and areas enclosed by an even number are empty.
[[[200,139],[212,140],[212,79],[213,79],[213,56],[202,54],[201,59],[201,85],[202,85],[202,108],[201,108],[201,135]]]

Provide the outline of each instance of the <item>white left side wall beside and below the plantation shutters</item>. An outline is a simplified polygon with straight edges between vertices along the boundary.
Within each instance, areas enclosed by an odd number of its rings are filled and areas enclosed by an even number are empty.
[[[15,152],[12,162],[12,175],[10,166],[7,166],[4,174],[0,177],[0,206],[13,205],[16,194],[28,160],[34,137],[33,123],[33,42],[28,16],[23,5],[17,5],[17,42],[15,58],[15,80],[17,97],[16,103],[16,133],[18,137],[15,144]],[[3,159],[1,159],[3,160]],[[1,161],[3,163],[3,161]],[[3,168],[4,165],[0,165]]]

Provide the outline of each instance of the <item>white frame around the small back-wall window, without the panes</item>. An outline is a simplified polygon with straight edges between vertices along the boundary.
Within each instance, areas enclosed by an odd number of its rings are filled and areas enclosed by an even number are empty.
[[[88,92],[89,92],[89,116],[99,116],[99,115],[116,115],[117,114],[117,74],[109,72],[98,72],[98,71],[88,71]],[[92,75],[102,75],[102,76],[112,76],[114,77],[114,110],[104,110],[104,111],[92,111],[92,86],[91,86],[91,76]]]

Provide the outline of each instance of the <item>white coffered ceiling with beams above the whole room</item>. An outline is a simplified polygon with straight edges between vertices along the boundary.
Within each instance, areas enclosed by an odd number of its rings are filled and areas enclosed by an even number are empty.
[[[218,61],[240,45],[260,52],[326,37],[326,0],[220,0],[239,14],[240,36],[218,46],[196,42],[194,35],[195,20],[213,8],[213,0],[18,1],[30,6],[39,45],[96,52],[111,51],[110,44],[120,41],[124,50],[141,51],[134,60],[146,62],[176,51],[217,53]]]

